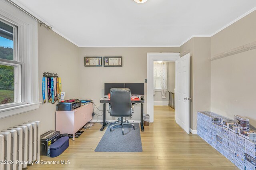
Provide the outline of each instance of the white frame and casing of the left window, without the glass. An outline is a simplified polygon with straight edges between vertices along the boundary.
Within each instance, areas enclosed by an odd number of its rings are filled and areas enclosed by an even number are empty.
[[[17,82],[22,82],[20,91],[16,94],[18,103],[0,105],[0,119],[17,115],[20,113],[38,109],[39,87],[38,87],[38,39],[35,19],[28,16],[18,8],[6,1],[0,1],[0,19],[18,27],[18,48],[14,46],[14,53],[18,55],[19,64],[22,63],[21,76],[14,77]],[[14,39],[15,39],[14,38]],[[16,61],[12,61],[13,64]],[[10,63],[10,62],[9,62]]]

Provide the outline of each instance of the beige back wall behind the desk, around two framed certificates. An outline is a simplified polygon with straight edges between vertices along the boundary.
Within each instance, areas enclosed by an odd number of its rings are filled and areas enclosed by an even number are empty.
[[[109,47],[79,49],[80,61],[80,95],[81,98],[93,99],[96,106],[102,110],[103,104],[99,103],[104,95],[104,83],[144,83],[147,78],[147,53],[150,52],[179,52],[179,47]],[[122,56],[123,67],[84,67],[85,56]],[[145,83],[145,99],[147,93]],[[108,108],[108,107],[107,107]],[[100,113],[94,109],[95,113]],[[144,104],[147,113],[147,102]],[[101,115],[101,114],[100,114]],[[94,117],[96,120],[97,117]],[[102,120],[100,116],[98,119]],[[106,119],[115,119],[106,114]],[[140,105],[134,108],[133,120],[140,120]]]

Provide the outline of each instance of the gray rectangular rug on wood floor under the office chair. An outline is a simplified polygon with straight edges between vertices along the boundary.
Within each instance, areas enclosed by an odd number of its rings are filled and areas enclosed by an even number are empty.
[[[142,152],[139,123],[134,123],[135,130],[131,125],[125,125],[124,135],[121,126],[113,127],[110,132],[111,125],[113,123],[106,129],[95,152]]]

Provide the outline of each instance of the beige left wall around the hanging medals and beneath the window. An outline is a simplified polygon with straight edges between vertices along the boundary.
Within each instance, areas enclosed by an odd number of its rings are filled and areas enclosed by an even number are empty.
[[[52,30],[38,25],[39,100],[42,102],[42,75],[44,71],[58,73],[62,78],[62,91],[66,99],[77,97],[78,47]],[[45,103],[38,110],[0,119],[0,129],[20,123],[41,121],[41,134],[55,130],[56,104]]]

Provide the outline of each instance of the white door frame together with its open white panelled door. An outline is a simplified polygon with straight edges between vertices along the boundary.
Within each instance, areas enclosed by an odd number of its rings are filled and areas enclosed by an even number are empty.
[[[175,61],[175,121],[190,133],[190,54],[180,58],[179,53],[148,53],[147,57],[147,113],[154,122],[154,61]]]

